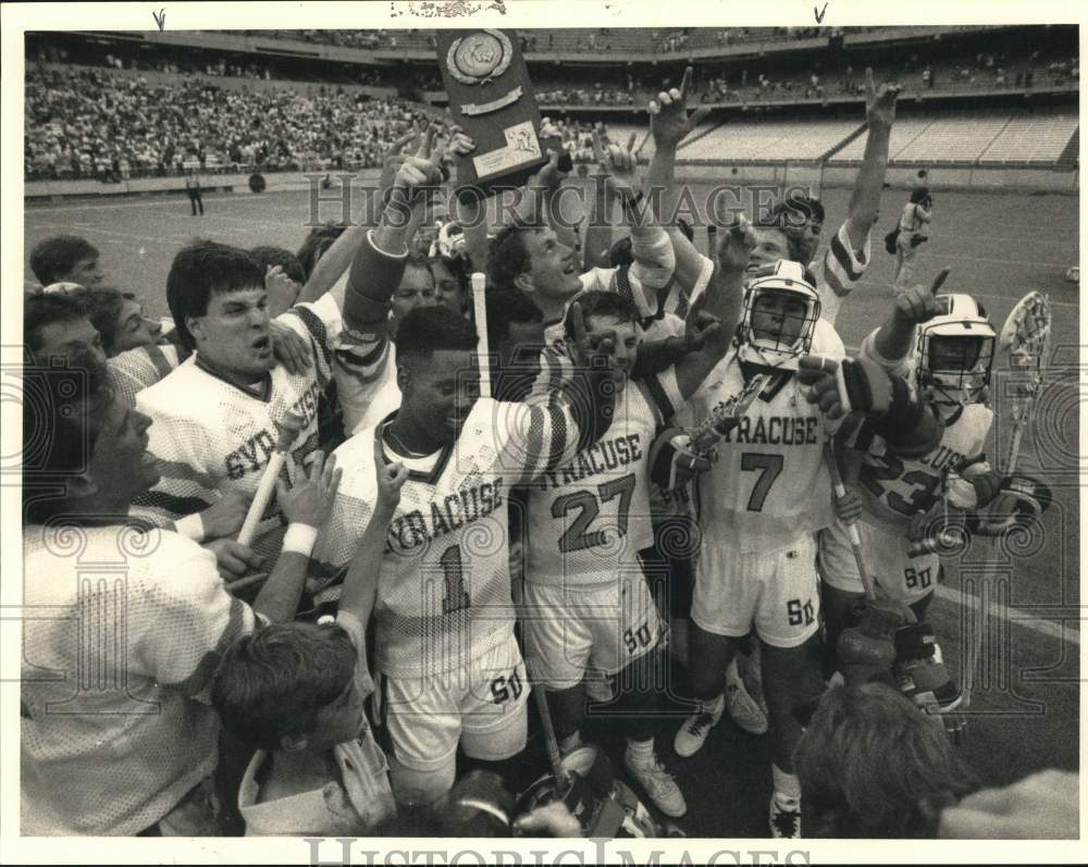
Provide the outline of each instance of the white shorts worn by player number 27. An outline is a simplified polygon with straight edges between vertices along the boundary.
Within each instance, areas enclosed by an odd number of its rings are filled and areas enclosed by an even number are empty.
[[[549,690],[618,674],[657,646],[660,618],[641,569],[593,587],[526,584],[526,652]]]

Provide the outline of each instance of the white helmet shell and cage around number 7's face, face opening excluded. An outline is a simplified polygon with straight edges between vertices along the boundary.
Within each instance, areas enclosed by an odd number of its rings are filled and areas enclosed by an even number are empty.
[[[779,259],[774,271],[749,282],[744,293],[744,311],[737,329],[738,357],[754,364],[796,370],[798,359],[812,347],[813,333],[819,320],[819,294],[812,272],[800,262]],[[778,335],[757,335],[752,327],[752,314],[759,298],[770,293],[789,295],[804,302],[804,313],[798,336],[790,340]],[[791,327],[792,331],[792,327]]]

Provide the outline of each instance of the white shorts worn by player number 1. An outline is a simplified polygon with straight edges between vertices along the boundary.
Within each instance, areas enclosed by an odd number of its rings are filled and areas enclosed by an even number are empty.
[[[393,755],[406,768],[452,770],[458,743],[466,755],[485,761],[524,750],[529,677],[514,635],[471,660],[466,671],[422,679],[381,676],[375,695]]]

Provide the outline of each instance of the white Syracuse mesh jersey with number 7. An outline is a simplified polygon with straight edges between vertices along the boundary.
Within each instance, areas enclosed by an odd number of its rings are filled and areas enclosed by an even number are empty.
[[[844,355],[842,340],[817,323],[813,352]],[[737,350],[718,363],[691,398],[696,419],[739,394],[744,376]],[[824,442],[838,422],[825,420],[805,399],[805,387],[782,371],[717,446],[717,460],[698,476],[697,501],[704,554],[725,545],[742,553],[784,547],[834,520]],[[707,568],[714,568],[707,561]]]

